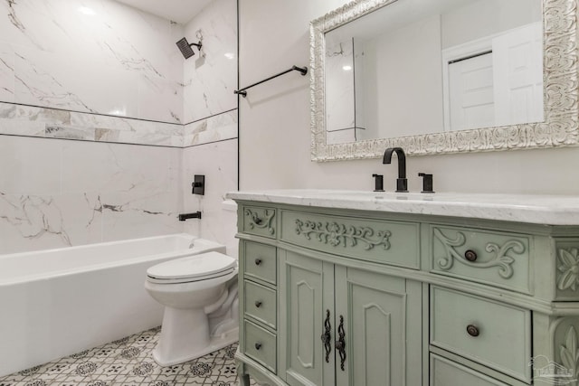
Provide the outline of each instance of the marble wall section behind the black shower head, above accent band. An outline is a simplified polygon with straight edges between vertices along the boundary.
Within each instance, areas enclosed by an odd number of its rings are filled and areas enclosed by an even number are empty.
[[[237,3],[214,0],[185,25],[189,42],[203,42],[202,54],[185,61],[184,122],[237,108]]]

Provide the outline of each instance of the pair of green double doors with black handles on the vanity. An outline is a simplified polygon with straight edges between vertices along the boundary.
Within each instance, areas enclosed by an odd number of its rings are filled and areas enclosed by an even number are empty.
[[[280,253],[280,372],[290,385],[416,385],[422,286]],[[327,343],[320,339],[327,334]],[[337,349],[343,341],[344,350]],[[283,374],[280,374],[283,375]]]

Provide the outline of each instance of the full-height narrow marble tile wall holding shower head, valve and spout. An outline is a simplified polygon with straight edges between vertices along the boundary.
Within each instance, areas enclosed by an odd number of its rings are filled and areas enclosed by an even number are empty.
[[[189,42],[202,37],[201,54],[184,66],[183,212],[185,231],[227,246],[237,256],[236,213],[223,211],[225,193],[237,190],[237,2],[214,0],[185,25]],[[195,174],[205,175],[205,195],[191,194]]]

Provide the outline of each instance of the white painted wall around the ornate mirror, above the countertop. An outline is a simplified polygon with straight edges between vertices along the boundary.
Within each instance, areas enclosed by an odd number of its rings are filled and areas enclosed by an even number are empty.
[[[307,65],[309,21],[345,3],[240,0],[240,83]],[[239,117],[242,190],[372,190],[373,173],[384,174],[386,189],[394,190],[396,167],[379,159],[310,161],[308,77],[290,73],[250,89]],[[438,192],[579,194],[577,160],[579,147],[409,157],[409,187],[419,191],[417,174],[425,172],[434,174]]]

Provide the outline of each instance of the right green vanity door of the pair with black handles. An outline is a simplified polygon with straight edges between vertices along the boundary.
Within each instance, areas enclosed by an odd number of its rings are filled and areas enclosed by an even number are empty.
[[[336,354],[336,384],[421,385],[422,285],[356,268],[335,271],[336,317],[339,323],[344,316],[346,332],[344,370]]]

